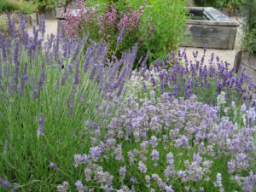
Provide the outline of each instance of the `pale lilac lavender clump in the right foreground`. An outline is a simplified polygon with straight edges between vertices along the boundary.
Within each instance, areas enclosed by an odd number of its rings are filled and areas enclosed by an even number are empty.
[[[253,181],[255,172],[244,175],[246,170],[253,169],[255,126],[239,129],[227,117],[219,119],[218,107],[198,102],[195,95],[184,100],[163,93],[155,99],[154,92],[151,92],[149,100],[129,98],[119,108],[117,117],[108,124],[107,131],[105,123],[100,125],[104,139],[96,145],[101,148],[101,154],[98,158],[88,159],[86,170],[94,172],[91,176],[99,174],[93,165],[101,165],[108,170],[102,161],[118,161],[117,156],[127,156],[125,162],[129,168],[121,164],[119,178],[115,178],[120,183],[127,182],[119,189],[121,191],[126,187],[132,191],[138,178],[138,183],[147,183],[144,188],[154,191],[184,191],[189,189],[187,184],[190,182],[200,183],[202,190],[211,190],[208,183],[212,183],[224,191],[230,188],[229,183],[222,182],[224,172],[216,173],[213,169],[219,160],[224,160],[222,164],[227,165],[228,179],[236,180],[241,189],[251,191],[256,184]],[[131,142],[139,144],[133,147],[139,147],[122,150],[125,143]],[[96,146],[90,147],[90,151]],[[160,164],[166,167],[164,175],[157,168]],[[138,177],[135,172],[144,177]],[[86,184],[90,185],[90,182]],[[112,187],[108,185],[107,189]]]

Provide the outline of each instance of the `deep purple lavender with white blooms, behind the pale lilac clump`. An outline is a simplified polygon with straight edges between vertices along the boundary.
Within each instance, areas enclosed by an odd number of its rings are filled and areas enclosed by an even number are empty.
[[[169,92],[172,96],[189,98],[196,95],[200,102],[220,107],[220,115],[229,116],[239,125],[243,124],[239,110],[245,106],[248,111],[256,109],[256,86],[250,81],[241,68],[239,73],[230,67],[226,61],[220,60],[212,53],[210,61],[205,61],[205,54],[198,58],[197,52],[194,59],[188,60],[186,50],[172,55],[166,55],[166,61],[155,61],[154,67],[142,67],[139,72],[134,72],[129,82],[130,92],[135,96],[150,97],[150,91],[155,90],[156,96]],[[223,94],[223,102],[218,102],[218,96]],[[231,103],[236,103],[236,110]]]

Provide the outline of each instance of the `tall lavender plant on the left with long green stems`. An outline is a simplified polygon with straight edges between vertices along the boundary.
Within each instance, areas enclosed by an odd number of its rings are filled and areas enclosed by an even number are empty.
[[[41,20],[32,36],[24,20],[20,32],[9,20],[9,38],[0,33],[1,191],[13,183],[20,191],[53,191],[75,179],[73,153],[89,148],[84,122],[100,121],[100,113],[111,113],[109,102],[121,101],[136,57],[134,46],[108,61],[108,44],[87,36],[44,39]]]

